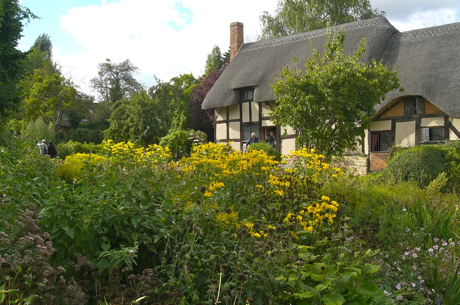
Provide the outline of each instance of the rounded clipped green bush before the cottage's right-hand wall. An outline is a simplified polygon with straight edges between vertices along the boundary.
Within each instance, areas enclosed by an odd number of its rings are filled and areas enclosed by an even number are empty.
[[[445,149],[431,145],[404,150],[390,160],[381,177],[397,182],[414,181],[424,188],[440,173],[449,173],[446,154]]]

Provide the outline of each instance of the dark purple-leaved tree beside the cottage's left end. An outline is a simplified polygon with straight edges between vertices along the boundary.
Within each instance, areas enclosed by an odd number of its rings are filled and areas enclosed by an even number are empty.
[[[219,70],[211,70],[209,73],[203,74],[199,79],[199,84],[194,86],[190,93],[189,110],[195,124],[195,130],[206,132],[208,139],[213,139],[213,124],[214,124],[214,109],[201,109],[204,98],[220,74],[224,72],[228,62]]]

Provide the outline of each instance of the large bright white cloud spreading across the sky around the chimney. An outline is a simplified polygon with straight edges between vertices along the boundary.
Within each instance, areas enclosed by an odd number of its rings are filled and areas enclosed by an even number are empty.
[[[60,25],[86,51],[64,54],[62,50],[55,58],[64,69],[73,68],[75,79],[86,82],[97,75],[96,66],[105,58],[114,62],[129,58],[141,76],[149,75],[149,79],[141,77],[147,85],[152,85],[153,74],[162,80],[190,72],[197,77],[214,45],[228,50],[231,22],[244,23],[245,37],[255,41],[256,31],[260,33],[260,7],[274,10],[276,0],[237,0],[231,7],[209,0],[184,0],[182,6],[190,8],[193,20],[179,31],[167,25],[170,20],[184,24],[173,6],[173,0],[120,0],[69,9]]]

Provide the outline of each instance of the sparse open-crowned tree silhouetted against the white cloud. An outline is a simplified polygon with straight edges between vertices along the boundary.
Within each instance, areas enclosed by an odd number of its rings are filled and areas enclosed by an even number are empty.
[[[143,85],[134,78],[139,69],[129,59],[115,63],[107,58],[98,64],[98,69],[98,77],[91,79],[91,84],[101,100],[110,105],[143,90]]]

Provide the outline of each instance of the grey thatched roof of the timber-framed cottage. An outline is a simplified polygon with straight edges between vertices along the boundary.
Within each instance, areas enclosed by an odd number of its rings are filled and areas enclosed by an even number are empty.
[[[404,95],[424,96],[445,113],[460,116],[460,107],[455,107],[460,98],[460,23],[400,33],[385,17],[378,17],[332,27],[340,28],[345,33],[345,52],[354,53],[366,37],[363,61],[375,58],[394,66],[406,90]],[[310,41],[316,50],[322,50],[325,34],[326,29],[320,29],[242,45],[207,94],[202,108],[234,105],[239,102],[236,89],[249,86],[254,86],[254,102],[275,100],[270,85],[279,78],[282,68],[304,68],[311,56]],[[293,56],[298,63],[293,62]],[[376,110],[400,95],[398,90],[390,92]]]

